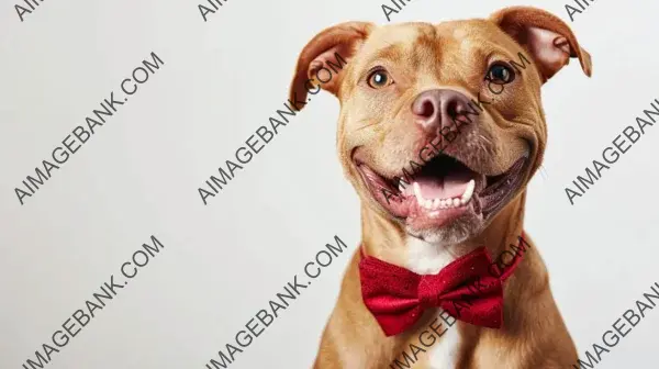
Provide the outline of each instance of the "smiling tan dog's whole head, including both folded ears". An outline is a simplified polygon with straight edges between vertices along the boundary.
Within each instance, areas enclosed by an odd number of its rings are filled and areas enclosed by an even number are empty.
[[[440,24],[348,22],[304,47],[291,101],[334,93],[339,157],[365,206],[413,236],[456,243],[539,167],[540,87],[571,57],[590,76],[570,29],[534,8]]]

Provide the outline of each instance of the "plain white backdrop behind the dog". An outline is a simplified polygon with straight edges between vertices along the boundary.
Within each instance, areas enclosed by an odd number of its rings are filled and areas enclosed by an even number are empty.
[[[204,368],[334,235],[357,246],[358,198],[336,158],[328,93],[208,206],[197,189],[282,107],[304,44],[339,22],[386,23],[382,2],[231,0],[206,23],[183,0],[46,0],[22,23],[13,4],[0,4],[0,368],[34,358],[152,234],[165,251],[46,368]],[[572,60],[544,88],[549,143],[525,226],[582,355],[659,281],[656,127],[574,205],[563,191],[659,98],[659,4],[599,1],[570,22],[558,1],[415,0],[392,22],[515,4],[566,20],[593,57],[592,78]],[[160,70],[21,206],[14,187],[150,52]],[[347,261],[323,270],[231,368],[309,368]],[[597,367],[657,367],[658,324],[649,311]]]

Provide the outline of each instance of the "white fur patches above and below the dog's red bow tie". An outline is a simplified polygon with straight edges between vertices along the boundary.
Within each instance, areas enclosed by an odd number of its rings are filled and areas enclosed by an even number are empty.
[[[444,248],[436,245],[425,243],[418,238],[407,239],[407,269],[418,275],[434,275],[437,273],[442,268],[454,261],[456,258]],[[443,327],[439,329],[442,336],[435,334],[436,340],[428,345],[426,337],[425,346],[420,346],[425,349],[425,353],[420,353],[417,362],[425,362],[422,368],[428,369],[455,369],[457,365],[457,358],[460,348],[460,331],[457,327],[457,322],[453,326],[448,326],[440,315],[442,310],[435,311],[435,316],[431,318],[431,322],[442,322]],[[446,317],[446,315],[445,315]],[[420,328],[420,334],[414,335],[420,337],[423,332],[428,327]],[[446,329],[446,331],[444,331]],[[416,339],[414,345],[423,345],[423,342]],[[428,347],[429,346],[429,347]],[[423,358],[423,356],[426,356]]]

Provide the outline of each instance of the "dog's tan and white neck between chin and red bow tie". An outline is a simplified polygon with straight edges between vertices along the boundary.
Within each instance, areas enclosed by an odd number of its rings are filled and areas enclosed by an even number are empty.
[[[364,251],[420,275],[437,273],[456,258],[484,246],[494,259],[522,234],[526,191],[511,201],[478,236],[451,245],[435,244],[409,235],[403,226],[361,206]]]

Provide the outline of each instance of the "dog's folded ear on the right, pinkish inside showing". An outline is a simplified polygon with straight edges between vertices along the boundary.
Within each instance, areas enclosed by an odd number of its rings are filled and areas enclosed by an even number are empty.
[[[578,57],[583,72],[591,76],[590,54],[579,46],[577,37],[560,18],[532,7],[512,7],[490,15],[490,21],[532,54],[543,82],[568,65],[570,57]]]

